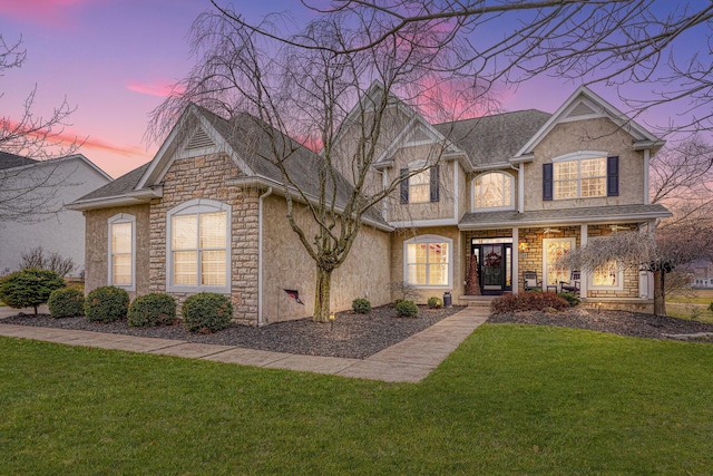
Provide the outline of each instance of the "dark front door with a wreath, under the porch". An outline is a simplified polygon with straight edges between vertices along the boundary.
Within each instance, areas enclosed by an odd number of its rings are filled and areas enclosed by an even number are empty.
[[[512,290],[511,243],[473,243],[471,252],[478,259],[478,278],[484,295]]]

